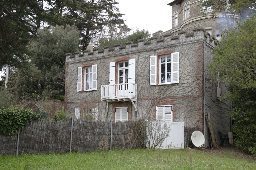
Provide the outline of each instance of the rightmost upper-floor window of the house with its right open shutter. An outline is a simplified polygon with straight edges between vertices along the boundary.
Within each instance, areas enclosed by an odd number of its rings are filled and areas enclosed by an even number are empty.
[[[179,83],[179,52],[159,57],[159,84]]]

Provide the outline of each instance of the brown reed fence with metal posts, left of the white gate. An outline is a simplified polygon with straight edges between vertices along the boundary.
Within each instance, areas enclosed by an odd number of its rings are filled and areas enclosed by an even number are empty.
[[[112,126],[112,148],[131,147],[142,122],[116,122]],[[100,150],[99,143],[106,136],[110,146],[111,122],[87,122],[73,120],[72,152],[91,152]],[[34,120],[20,130],[18,154],[67,153],[70,151],[71,119],[62,121]],[[133,148],[143,146],[143,132],[135,140]],[[131,137],[130,137],[131,136]],[[130,138],[129,138],[130,137]],[[124,138],[124,139],[123,139]],[[130,140],[129,140],[130,139]],[[0,155],[15,155],[17,134],[0,133]],[[123,142],[124,141],[124,142]],[[132,141],[132,142],[131,142]]]

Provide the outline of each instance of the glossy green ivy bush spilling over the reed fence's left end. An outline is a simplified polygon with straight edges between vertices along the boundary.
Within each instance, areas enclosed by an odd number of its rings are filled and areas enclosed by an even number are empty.
[[[0,132],[7,135],[18,133],[19,129],[24,128],[29,122],[38,119],[39,115],[30,109],[10,106],[0,109]]]

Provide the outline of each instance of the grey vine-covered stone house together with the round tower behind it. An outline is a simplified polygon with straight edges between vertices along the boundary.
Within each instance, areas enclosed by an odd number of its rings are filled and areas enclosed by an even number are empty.
[[[217,139],[217,130],[230,131],[229,101],[218,100],[225,88],[210,81],[206,65],[225,22],[221,15],[201,16],[198,3],[172,0],[172,29],[150,41],[66,54],[66,109],[98,121],[184,122],[204,133],[206,145],[208,126]]]

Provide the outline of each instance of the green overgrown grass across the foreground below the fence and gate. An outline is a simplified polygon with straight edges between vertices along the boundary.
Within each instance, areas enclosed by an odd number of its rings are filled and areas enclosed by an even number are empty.
[[[161,156],[159,156],[161,155]],[[125,159],[124,159],[125,156]],[[105,153],[1,156],[0,169],[256,169],[256,162],[202,150],[112,150]]]

